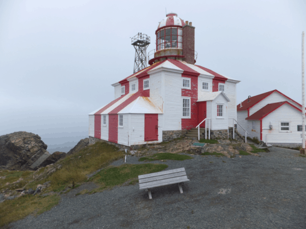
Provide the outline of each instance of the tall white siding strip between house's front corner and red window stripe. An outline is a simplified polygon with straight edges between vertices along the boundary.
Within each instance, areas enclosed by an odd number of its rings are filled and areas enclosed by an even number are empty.
[[[182,74],[165,74],[164,130],[182,129]]]

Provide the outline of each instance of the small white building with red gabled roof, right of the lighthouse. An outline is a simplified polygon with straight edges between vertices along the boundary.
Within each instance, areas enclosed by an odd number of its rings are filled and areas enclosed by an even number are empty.
[[[302,105],[273,90],[237,105],[237,121],[249,133],[274,146],[301,145]],[[238,125],[238,132],[245,131]]]

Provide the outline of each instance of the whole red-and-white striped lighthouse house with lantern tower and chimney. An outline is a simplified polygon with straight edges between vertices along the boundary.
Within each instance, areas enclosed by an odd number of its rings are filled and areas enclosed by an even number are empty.
[[[112,84],[115,100],[89,114],[89,137],[124,146],[162,142],[209,118],[211,130],[237,119],[236,84],[195,65],[194,30],[170,13],[156,31],[149,67]],[[205,127],[205,122],[201,124]]]

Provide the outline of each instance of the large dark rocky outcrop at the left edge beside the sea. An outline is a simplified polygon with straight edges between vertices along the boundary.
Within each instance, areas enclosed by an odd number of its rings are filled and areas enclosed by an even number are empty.
[[[41,164],[45,166],[54,163],[58,155],[52,156],[46,149],[47,145],[37,134],[19,131],[2,135],[0,136],[0,168],[36,170]]]

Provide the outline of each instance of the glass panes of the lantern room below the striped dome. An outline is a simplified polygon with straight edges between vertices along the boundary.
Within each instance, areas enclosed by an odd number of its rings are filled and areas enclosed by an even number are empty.
[[[157,50],[165,48],[183,48],[183,30],[179,27],[169,27],[157,33]]]

